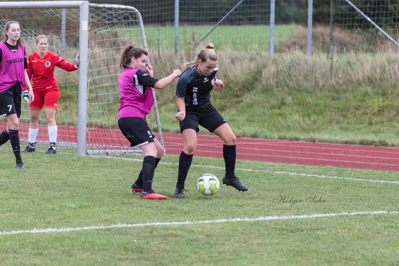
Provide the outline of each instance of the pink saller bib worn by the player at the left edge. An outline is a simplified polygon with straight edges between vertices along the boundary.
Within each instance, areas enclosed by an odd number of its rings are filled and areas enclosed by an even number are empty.
[[[0,93],[19,82],[25,87],[25,47],[18,44],[18,49],[10,50],[5,43],[0,43],[2,59],[0,63]]]

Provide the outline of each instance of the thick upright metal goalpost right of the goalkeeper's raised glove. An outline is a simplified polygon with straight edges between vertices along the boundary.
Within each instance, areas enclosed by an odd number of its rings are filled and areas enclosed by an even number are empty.
[[[87,131],[87,67],[89,44],[89,1],[80,5],[79,27],[79,100],[77,118],[77,155],[86,155]]]

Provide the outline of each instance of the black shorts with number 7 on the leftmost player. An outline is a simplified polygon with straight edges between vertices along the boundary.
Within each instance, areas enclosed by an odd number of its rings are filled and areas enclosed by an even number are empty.
[[[21,85],[15,83],[5,91],[0,93],[0,116],[17,114],[21,116]]]

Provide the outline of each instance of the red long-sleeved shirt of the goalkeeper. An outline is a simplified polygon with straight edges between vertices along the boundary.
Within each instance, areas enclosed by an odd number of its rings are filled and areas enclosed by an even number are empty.
[[[57,90],[58,85],[55,80],[55,66],[66,71],[75,71],[75,64],[68,63],[61,56],[47,51],[43,58],[40,58],[38,51],[28,56],[28,73],[29,80],[32,79],[33,91],[45,92],[47,90]],[[25,87],[25,89],[27,89]]]

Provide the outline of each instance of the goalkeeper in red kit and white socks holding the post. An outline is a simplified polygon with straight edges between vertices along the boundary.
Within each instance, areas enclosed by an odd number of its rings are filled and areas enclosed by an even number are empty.
[[[50,147],[45,154],[55,154],[55,143],[57,142],[57,123],[55,112],[58,108],[59,89],[54,76],[55,66],[66,71],[75,71],[79,68],[79,53],[75,63],[68,63],[59,55],[48,51],[49,41],[46,35],[36,37],[38,51],[28,56],[29,80],[32,78],[35,101],[29,104],[30,124],[28,135],[28,146],[22,152],[34,152],[36,136],[39,131],[39,118],[44,106],[44,114],[47,121]]]

